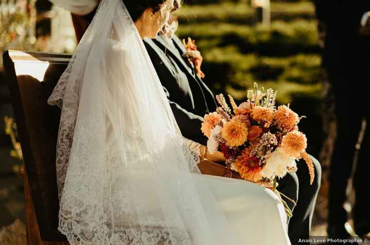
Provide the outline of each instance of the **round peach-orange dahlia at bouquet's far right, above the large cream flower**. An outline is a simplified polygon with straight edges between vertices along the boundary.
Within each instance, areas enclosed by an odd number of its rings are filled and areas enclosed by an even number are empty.
[[[281,147],[290,157],[299,158],[307,148],[306,135],[299,131],[289,132],[283,137]]]

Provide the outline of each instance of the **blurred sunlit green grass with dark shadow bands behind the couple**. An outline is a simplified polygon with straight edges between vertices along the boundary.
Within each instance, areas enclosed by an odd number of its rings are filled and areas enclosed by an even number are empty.
[[[309,151],[318,154],[321,58],[313,4],[273,2],[269,28],[255,25],[254,10],[244,1],[185,4],[177,16],[177,35],[196,40],[205,81],[215,93],[244,99],[254,82],[278,90],[278,104],[291,103],[307,116],[301,129]]]

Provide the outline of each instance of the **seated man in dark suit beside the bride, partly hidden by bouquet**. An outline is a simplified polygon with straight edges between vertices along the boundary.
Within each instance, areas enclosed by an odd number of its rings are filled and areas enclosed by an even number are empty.
[[[175,4],[177,7],[180,5],[179,1],[175,1]],[[194,65],[192,63],[189,65],[187,59],[182,57],[186,49],[180,39],[173,34],[175,28],[176,21],[172,19],[170,34],[160,35],[155,39],[144,39],[144,44],[167,94],[182,135],[206,144],[207,139],[200,131],[202,122],[200,116],[215,111],[216,102],[211,90],[196,74]],[[298,244],[300,238],[309,238],[312,215],[321,183],[321,166],[315,158],[311,158],[316,172],[312,185],[309,184],[308,169],[303,162],[298,164],[297,173],[289,173],[279,180],[278,190],[297,201],[297,206],[293,209],[293,217],[289,220],[288,230],[292,244]],[[292,209],[291,202],[287,201],[287,203]]]

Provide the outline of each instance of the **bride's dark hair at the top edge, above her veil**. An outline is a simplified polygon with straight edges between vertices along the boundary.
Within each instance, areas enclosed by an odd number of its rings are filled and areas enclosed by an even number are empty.
[[[140,18],[144,13],[145,9],[153,9],[153,13],[160,12],[160,15],[165,16],[166,13],[170,12],[172,6],[170,6],[169,0],[122,0],[126,6],[128,13],[134,22]],[[176,2],[176,1],[175,1]]]

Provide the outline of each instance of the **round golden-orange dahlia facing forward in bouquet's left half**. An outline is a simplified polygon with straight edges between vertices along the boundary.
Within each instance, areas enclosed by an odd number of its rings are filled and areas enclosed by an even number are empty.
[[[247,140],[248,128],[241,120],[231,119],[224,125],[221,135],[228,146],[238,147]]]

